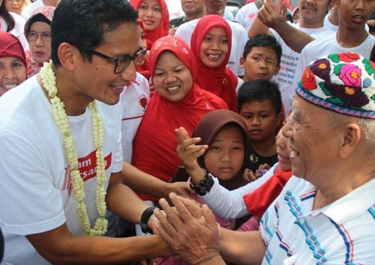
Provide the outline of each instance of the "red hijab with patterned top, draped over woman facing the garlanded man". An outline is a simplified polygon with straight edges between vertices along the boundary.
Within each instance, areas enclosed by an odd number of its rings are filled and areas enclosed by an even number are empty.
[[[193,72],[194,59],[189,46],[179,37],[167,36],[158,39],[151,49],[151,78],[163,51],[172,51]],[[132,164],[156,178],[170,181],[181,162],[176,152],[174,129],[182,126],[191,135],[205,113],[215,109],[227,109],[227,105],[214,94],[201,90],[195,83],[189,94],[180,101],[169,101],[155,92],[136,132]],[[149,195],[139,197],[158,200]]]

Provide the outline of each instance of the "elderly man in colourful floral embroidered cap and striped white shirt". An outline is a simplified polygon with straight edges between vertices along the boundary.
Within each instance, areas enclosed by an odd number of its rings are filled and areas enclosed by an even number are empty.
[[[160,200],[167,218],[155,211],[158,233],[191,264],[374,264],[374,71],[354,53],[331,54],[305,69],[293,122],[283,129],[295,176],[260,231],[219,231],[206,205],[172,194],[179,215]],[[204,146],[191,148],[199,153]],[[198,186],[209,192],[208,183]]]

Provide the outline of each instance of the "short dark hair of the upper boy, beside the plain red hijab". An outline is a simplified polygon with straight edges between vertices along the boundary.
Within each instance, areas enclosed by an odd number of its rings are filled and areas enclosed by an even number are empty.
[[[250,51],[251,49],[253,49],[253,47],[268,47],[273,49],[277,56],[277,66],[280,65],[281,54],[283,53],[283,49],[274,37],[267,34],[258,34],[248,39],[248,41],[245,44],[245,47],[243,48],[243,58],[246,59],[246,56],[250,54]]]

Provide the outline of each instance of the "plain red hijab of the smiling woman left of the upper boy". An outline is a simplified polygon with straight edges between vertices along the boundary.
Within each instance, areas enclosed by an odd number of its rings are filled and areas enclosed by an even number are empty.
[[[228,53],[224,61],[215,68],[208,68],[201,61],[200,51],[203,38],[210,32],[212,27],[222,27],[228,37]],[[231,52],[231,27],[222,16],[207,15],[201,18],[191,35],[191,51],[196,59],[194,70],[197,73],[196,82],[213,94],[221,97],[229,106],[231,111],[237,112],[236,86],[239,82],[234,73],[227,68]]]

